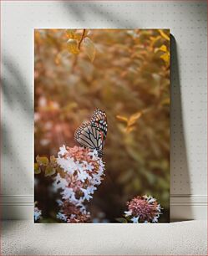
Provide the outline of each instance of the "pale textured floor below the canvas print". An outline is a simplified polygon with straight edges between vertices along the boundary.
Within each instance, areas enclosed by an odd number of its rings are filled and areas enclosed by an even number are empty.
[[[33,224],[3,221],[7,255],[207,255],[205,221],[170,224]]]

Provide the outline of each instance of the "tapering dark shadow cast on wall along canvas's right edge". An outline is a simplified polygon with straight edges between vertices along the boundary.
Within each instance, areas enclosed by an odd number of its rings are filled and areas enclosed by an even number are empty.
[[[177,211],[181,205],[177,203],[180,197],[190,195],[190,173],[185,146],[185,129],[180,91],[180,71],[175,38],[170,34],[170,218],[175,220],[193,218],[191,205],[185,206],[185,212]],[[185,195],[181,192],[185,184]],[[174,199],[177,202],[174,202]]]

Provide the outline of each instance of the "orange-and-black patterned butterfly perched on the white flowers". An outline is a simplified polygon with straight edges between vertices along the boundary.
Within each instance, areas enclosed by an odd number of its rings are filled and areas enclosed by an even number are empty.
[[[98,151],[103,156],[104,141],[107,136],[108,124],[104,110],[94,110],[94,114],[87,123],[83,123],[74,133],[74,140],[79,145]]]

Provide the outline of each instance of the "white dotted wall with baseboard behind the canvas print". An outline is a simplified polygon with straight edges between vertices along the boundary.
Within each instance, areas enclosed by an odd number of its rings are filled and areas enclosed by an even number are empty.
[[[206,218],[206,1],[1,1],[3,218],[33,218],[33,28],[170,28],[171,218]]]

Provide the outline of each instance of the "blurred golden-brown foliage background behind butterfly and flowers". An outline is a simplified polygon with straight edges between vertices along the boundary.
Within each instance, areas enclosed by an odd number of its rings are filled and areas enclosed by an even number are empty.
[[[35,157],[74,146],[74,131],[96,108],[106,111],[106,176],[89,211],[116,222],[134,196],[150,194],[169,222],[170,31],[36,29]],[[36,175],[35,200],[55,221],[52,177]]]

